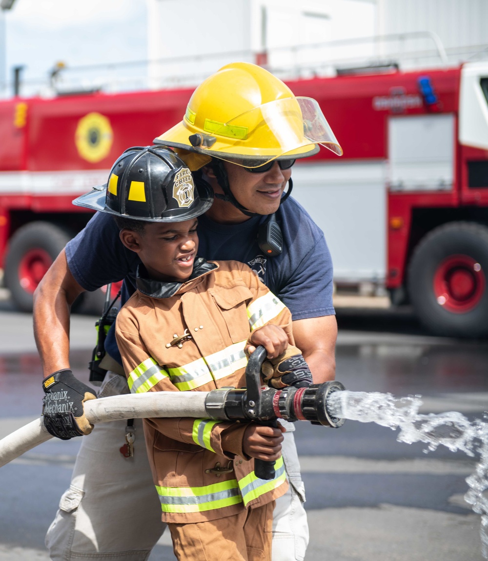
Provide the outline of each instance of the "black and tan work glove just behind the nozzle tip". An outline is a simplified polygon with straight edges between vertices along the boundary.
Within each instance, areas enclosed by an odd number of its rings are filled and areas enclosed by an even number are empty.
[[[306,388],[313,384],[312,373],[303,355],[287,355],[289,351],[285,351],[278,358],[268,358],[261,366],[269,385],[280,389],[290,385],[294,388]]]

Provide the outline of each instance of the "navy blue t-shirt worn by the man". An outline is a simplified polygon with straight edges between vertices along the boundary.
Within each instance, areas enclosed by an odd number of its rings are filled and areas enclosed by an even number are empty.
[[[257,245],[257,231],[267,217],[256,216],[229,225],[213,222],[205,215],[198,218],[198,255],[207,260],[234,259],[246,263],[288,307],[293,320],[335,314],[332,259],[323,232],[292,197],[280,206],[276,217],[283,233],[281,255],[266,256]],[[67,243],[66,257],[73,277],[86,290],[124,279],[124,304],[136,289],[140,259],[123,245],[118,233],[110,214],[96,213]],[[122,362],[113,328],[105,348]]]

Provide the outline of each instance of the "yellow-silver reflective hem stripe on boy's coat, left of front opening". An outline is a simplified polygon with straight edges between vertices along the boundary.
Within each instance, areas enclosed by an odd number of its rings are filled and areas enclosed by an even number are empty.
[[[204,512],[242,503],[236,479],[204,487],[160,487],[156,485],[163,512]]]

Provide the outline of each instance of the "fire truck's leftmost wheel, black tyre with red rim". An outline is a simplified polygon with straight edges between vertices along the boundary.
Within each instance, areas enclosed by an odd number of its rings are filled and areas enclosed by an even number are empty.
[[[4,282],[17,309],[32,311],[35,288],[71,237],[66,229],[49,222],[31,222],[13,234]]]

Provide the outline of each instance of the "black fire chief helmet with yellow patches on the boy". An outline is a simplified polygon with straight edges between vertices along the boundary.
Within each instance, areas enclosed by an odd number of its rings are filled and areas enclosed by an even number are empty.
[[[183,222],[208,210],[213,191],[163,146],[134,146],[113,164],[108,183],[73,201],[116,216],[149,222]]]

